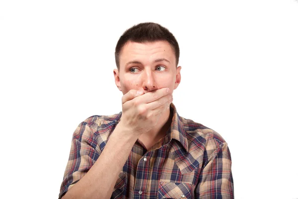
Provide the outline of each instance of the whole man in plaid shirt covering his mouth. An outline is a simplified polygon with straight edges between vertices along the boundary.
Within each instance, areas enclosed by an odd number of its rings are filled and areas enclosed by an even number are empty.
[[[175,37],[140,23],[120,37],[115,59],[122,112],[79,124],[59,198],[233,198],[227,143],[171,103],[181,80]]]

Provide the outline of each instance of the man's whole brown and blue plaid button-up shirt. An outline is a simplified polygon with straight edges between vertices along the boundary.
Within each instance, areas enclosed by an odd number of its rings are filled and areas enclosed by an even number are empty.
[[[233,179],[227,143],[217,132],[180,117],[146,150],[138,141],[116,181],[112,199],[231,199]],[[74,131],[61,198],[95,163],[122,112],[91,116]]]

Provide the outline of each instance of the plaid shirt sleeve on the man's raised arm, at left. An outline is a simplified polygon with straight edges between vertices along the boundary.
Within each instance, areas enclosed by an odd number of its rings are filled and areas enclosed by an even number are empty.
[[[99,157],[97,140],[87,122],[82,122],[74,131],[69,160],[60,188],[59,199],[74,186],[93,166]]]

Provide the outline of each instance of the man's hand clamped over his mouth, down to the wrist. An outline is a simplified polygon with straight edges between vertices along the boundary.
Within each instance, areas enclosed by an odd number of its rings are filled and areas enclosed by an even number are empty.
[[[127,130],[140,136],[157,124],[172,100],[168,88],[146,94],[143,91],[130,90],[122,97],[121,122]]]

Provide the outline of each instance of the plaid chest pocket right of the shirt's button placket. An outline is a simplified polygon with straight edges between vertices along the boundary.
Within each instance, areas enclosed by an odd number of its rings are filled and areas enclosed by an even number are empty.
[[[194,188],[190,183],[160,182],[158,199],[193,199]]]

